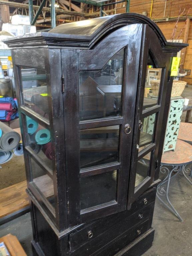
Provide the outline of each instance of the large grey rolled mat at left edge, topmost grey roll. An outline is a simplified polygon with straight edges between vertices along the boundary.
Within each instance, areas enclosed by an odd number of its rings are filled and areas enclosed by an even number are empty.
[[[2,130],[0,149],[11,151],[16,148],[21,140],[20,135],[2,122],[0,122],[0,129]]]

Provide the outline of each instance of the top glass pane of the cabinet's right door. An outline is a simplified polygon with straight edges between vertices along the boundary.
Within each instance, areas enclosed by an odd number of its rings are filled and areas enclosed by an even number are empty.
[[[153,60],[149,54],[145,80],[143,110],[158,104],[161,72],[162,68],[154,68]]]

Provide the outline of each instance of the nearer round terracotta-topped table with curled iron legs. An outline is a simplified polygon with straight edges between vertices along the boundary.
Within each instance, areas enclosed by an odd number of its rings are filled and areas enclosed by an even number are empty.
[[[192,171],[189,168],[186,169],[186,166],[191,163],[192,163],[192,145],[179,139],[177,140],[175,151],[165,152],[161,158],[160,173],[163,175],[166,175],[166,177],[157,186],[157,197],[181,221],[183,221],[183,219],[181,218],[179,213],[176,211],[176,209],[174,208],[174,206],[172,205],[169,199],[170,180],[176,175],[178,175],[178,173],[182,172],[184,177],[192,185],[192,181],[189,178],[189,175],[192,178],[192,175],[191,175]],[[164,187],[163,186],[164,184],[167,184],[167,186]],[[164,197],[166,197],[168,204],[166,204],[162,199]]]

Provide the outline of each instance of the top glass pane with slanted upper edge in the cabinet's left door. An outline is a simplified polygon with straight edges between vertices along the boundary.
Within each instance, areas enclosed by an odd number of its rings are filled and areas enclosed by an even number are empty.
[[[99,71],[79,72],[80,120],[121,115],[125,49]]]

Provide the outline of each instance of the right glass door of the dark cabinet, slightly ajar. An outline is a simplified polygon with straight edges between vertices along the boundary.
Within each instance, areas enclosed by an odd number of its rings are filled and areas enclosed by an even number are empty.
[[[147,190],[154,182],[157,168],[157,144],[159,143],[159,116],[161,111],[161,90],[164,83],[164,68],[157,68],[152,54],[149,52],[145,60],[146,69],[143,70],[144,79],[141,81],[135,137],[132,157],[132,180],[130,183],[131,197],[136,198]],[[146,74],[146,75],[145,75]]]

